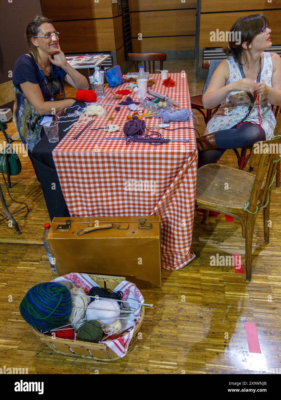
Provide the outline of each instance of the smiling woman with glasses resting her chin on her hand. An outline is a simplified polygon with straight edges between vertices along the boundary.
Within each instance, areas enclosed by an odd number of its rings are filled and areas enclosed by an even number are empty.
[[[87,90],[87,78],[67,63],[59,46],[59,32],[52,21],[37,15],[26,27],[30,52],[14,66],[14,124],[28,154],[44,134],[40,122],[45,115],[63,113],[75,103],[65,99],[64,80],[77,89]]]

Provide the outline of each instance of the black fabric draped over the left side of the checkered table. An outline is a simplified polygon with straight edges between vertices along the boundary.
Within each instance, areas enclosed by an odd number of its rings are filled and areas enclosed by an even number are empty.
[[[75,110],[78,109],[78,105],[84,107],[85,103],[78,101],[75,102],[75,104],[69,110],[67,110],[64,116],[75,112]],[[64,122],[59,123],[59,142],[68,133],[68,131],[63,132],[63,130],[73,124],[73,122],[69,122],[69,120],[74,119],[75,118],[73,117],[63,118],[62,120]],[[54,217],[70,216],[69,210],[65,203],[65,198],[63,197],[63,192],[59,183],[59,177],[52,156],[52,151],[59,144],[59,142],[50,143],[47,136],[44,135],[34,146],[31,153],[51,220],[53,220]],[[55,190],[52,190],[54,183]]]

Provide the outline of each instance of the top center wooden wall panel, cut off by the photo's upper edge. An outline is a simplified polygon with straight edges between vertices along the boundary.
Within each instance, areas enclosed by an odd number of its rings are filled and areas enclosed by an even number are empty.
[[[177,8],[196,8],[196,0],[129,0],[129,10],[149,11],[149,10],[173,10]]]

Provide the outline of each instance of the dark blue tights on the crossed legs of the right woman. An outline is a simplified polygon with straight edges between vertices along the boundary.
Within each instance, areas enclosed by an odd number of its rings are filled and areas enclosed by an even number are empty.
[[[261,138],[261,130],[263,136]],[[215,132],[217,149],[206,150],[198,153],[198,168],[205,164],[216,163],[226,149],[236,149],[251,146],[259,140],[265,140],[265,131],[259,125],[247,122],[237,129],[223,129]]]

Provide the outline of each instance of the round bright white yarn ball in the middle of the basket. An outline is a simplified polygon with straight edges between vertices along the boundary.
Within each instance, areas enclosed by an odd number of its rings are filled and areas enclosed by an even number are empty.
[[[100,310],[100,308],[103,308],[105,310]],[[116,310],[116,311],[109,311],[109,310]],[[88,321],[98,320],[101,325],[113,324],[113,322],[115,322],[115,320],[119,317],[119,315],[120,315],[119,304],[117,303],[117,301],[112,301],[112,300],[103,300],[103,299],[99,299],[98,301],[94,300],[93,302],[91,302],[91,304],[89,304],[86,311],[86,317]]]

